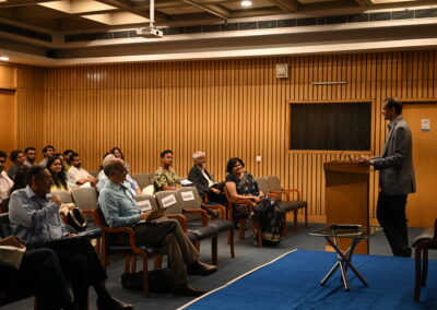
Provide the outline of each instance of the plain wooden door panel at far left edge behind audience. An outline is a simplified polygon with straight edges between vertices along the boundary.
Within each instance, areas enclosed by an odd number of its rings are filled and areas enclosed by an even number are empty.
[[[11,165],[10,154],[16,147],[14,92],[0,90],[0,150],[8,153],[7,168]]]

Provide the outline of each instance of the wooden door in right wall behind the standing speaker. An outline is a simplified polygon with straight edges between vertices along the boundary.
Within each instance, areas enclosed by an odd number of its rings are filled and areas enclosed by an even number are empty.
[[[410,194],[406,215],[411,227],[432,227],[437,218],[437,102],[406,104],[402,112],[413,134],[413,160],[417,192]],[[422,120],[430,130],[422,131]]]

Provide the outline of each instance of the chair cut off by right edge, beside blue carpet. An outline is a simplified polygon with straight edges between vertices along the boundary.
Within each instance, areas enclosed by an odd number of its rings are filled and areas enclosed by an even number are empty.
[[[428,250],[437,249],[437,219],[434,227],[424,229],[414,238],[412,247],[415,247],[414,300],[420,301],[421,287],[426,285],[428,275]]]

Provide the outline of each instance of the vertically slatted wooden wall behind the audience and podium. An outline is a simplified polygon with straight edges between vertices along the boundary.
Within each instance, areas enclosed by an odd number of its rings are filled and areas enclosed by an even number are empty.
[[[290,64],[288,79],[275,78],[276,63]],[[346,84],[311,84],[336,81]],[[203,150],[217,179],[227,159],[239,156],[255,176],[277,175],[284,187],[300,189],[311,219],[323,220],[322,164],[340,152],[288,151],[290,103],[373,100],[371,153],[378,154],[386,134],[381,102],[436,97],[437,51],[20,67],[17,93],[21,147],[73,148],[97,170],[104,153],[120,146],[133,172],[155,170],[160,152],[170,148],[180,176]],[[376,174],[370,186],[371,208]]]

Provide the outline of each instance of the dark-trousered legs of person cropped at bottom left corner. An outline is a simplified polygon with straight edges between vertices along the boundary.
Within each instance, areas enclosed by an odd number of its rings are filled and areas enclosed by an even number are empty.
[[[0,238],[0,246],[24,247],[16,236]],[[76,309],[71,300],[58,258],[50,249],[27,250],[23,254],[19,270],[0,264],[0,291],[22,297],[28,296],[26,291],[35,293],[38,298],[38,309]]]

